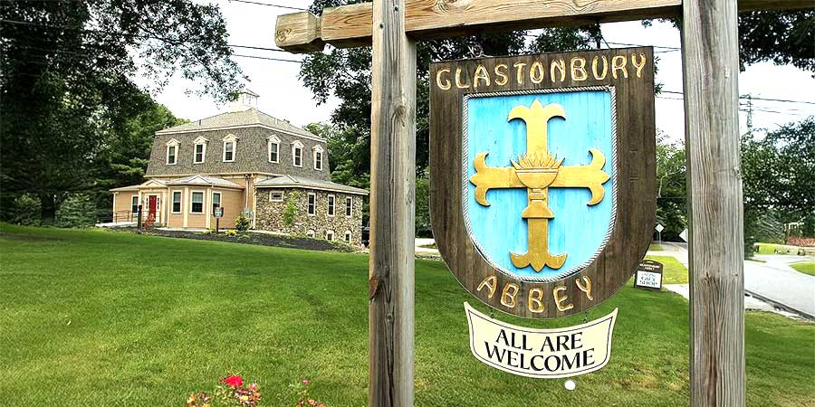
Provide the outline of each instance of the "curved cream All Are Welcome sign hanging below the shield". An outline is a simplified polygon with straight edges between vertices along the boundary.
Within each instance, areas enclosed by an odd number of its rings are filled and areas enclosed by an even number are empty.
[[[465,302],[470,350],[476,359],[511,374],[542,379],[588,374],[609,363],[617,308],[577,327],[533,329],[498,321]]]

